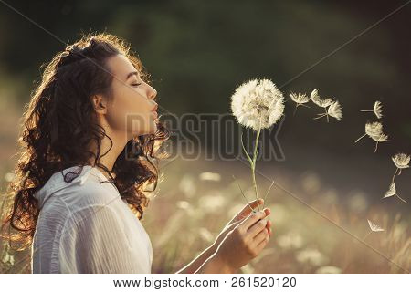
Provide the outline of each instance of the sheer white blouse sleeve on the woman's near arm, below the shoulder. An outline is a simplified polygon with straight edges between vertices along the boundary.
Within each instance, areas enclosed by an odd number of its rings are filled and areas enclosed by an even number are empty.
[[[59,247],[61,273],[146,273],[132,251],[121,214],[110,205],[85,207],[70,215]]]

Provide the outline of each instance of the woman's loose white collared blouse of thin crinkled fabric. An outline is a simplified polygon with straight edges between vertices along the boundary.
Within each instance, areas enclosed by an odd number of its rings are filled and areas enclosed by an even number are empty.
[[[73,166],[63,173],[80,170]],[[149,235],[117,188],[103,181],[97,168],[86,165],[71,183],[56,172],[35,193],[41,210],[32,273],[151,273]]]

